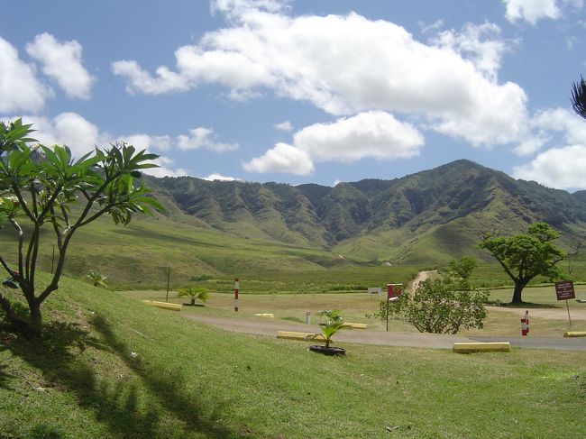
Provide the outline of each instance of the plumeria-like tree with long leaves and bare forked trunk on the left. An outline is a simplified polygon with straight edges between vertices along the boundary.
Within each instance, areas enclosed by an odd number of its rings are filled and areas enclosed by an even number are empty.
[[[0,251],[0,264],[18,284],[30,319],[17,316],[5,297],[0,296],[0,306],[10,320],[38,333],[41,304],[59,288],[74,234],[101,215],[129,224],[134,214],[153,215],[151,208],[162,212],[163,207],[147,196],[149,189],[133,185],[141,169],[157,167],[152,163],[157,155],[123,142],[74,160],[66,146],[47,147],[27,137],[31,126],[21,119],[0,123],[0,225],[10,224],[18,242],[12,260],[5,249]],[[49,284],[38,288],[41,231],[46,229],[54,235],[59,258]]]

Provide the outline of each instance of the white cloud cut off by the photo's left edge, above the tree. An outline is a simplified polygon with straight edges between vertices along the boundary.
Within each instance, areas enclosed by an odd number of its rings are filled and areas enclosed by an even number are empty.
[[[14,46],[0,38],[0,114],[37,112],[52,96],[35,76],[34,67],[23,62]]]

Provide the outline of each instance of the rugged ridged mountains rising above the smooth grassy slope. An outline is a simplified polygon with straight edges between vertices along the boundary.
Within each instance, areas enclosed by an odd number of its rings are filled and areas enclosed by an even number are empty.
[[[244,239],[321,249],[354,261],[449,261],[482,231],[517,233],[545,221],[568,245],[586,232],[586,192],[516,180],[469,160],[393,180],[314,184],[147,178],[170,216]]]

